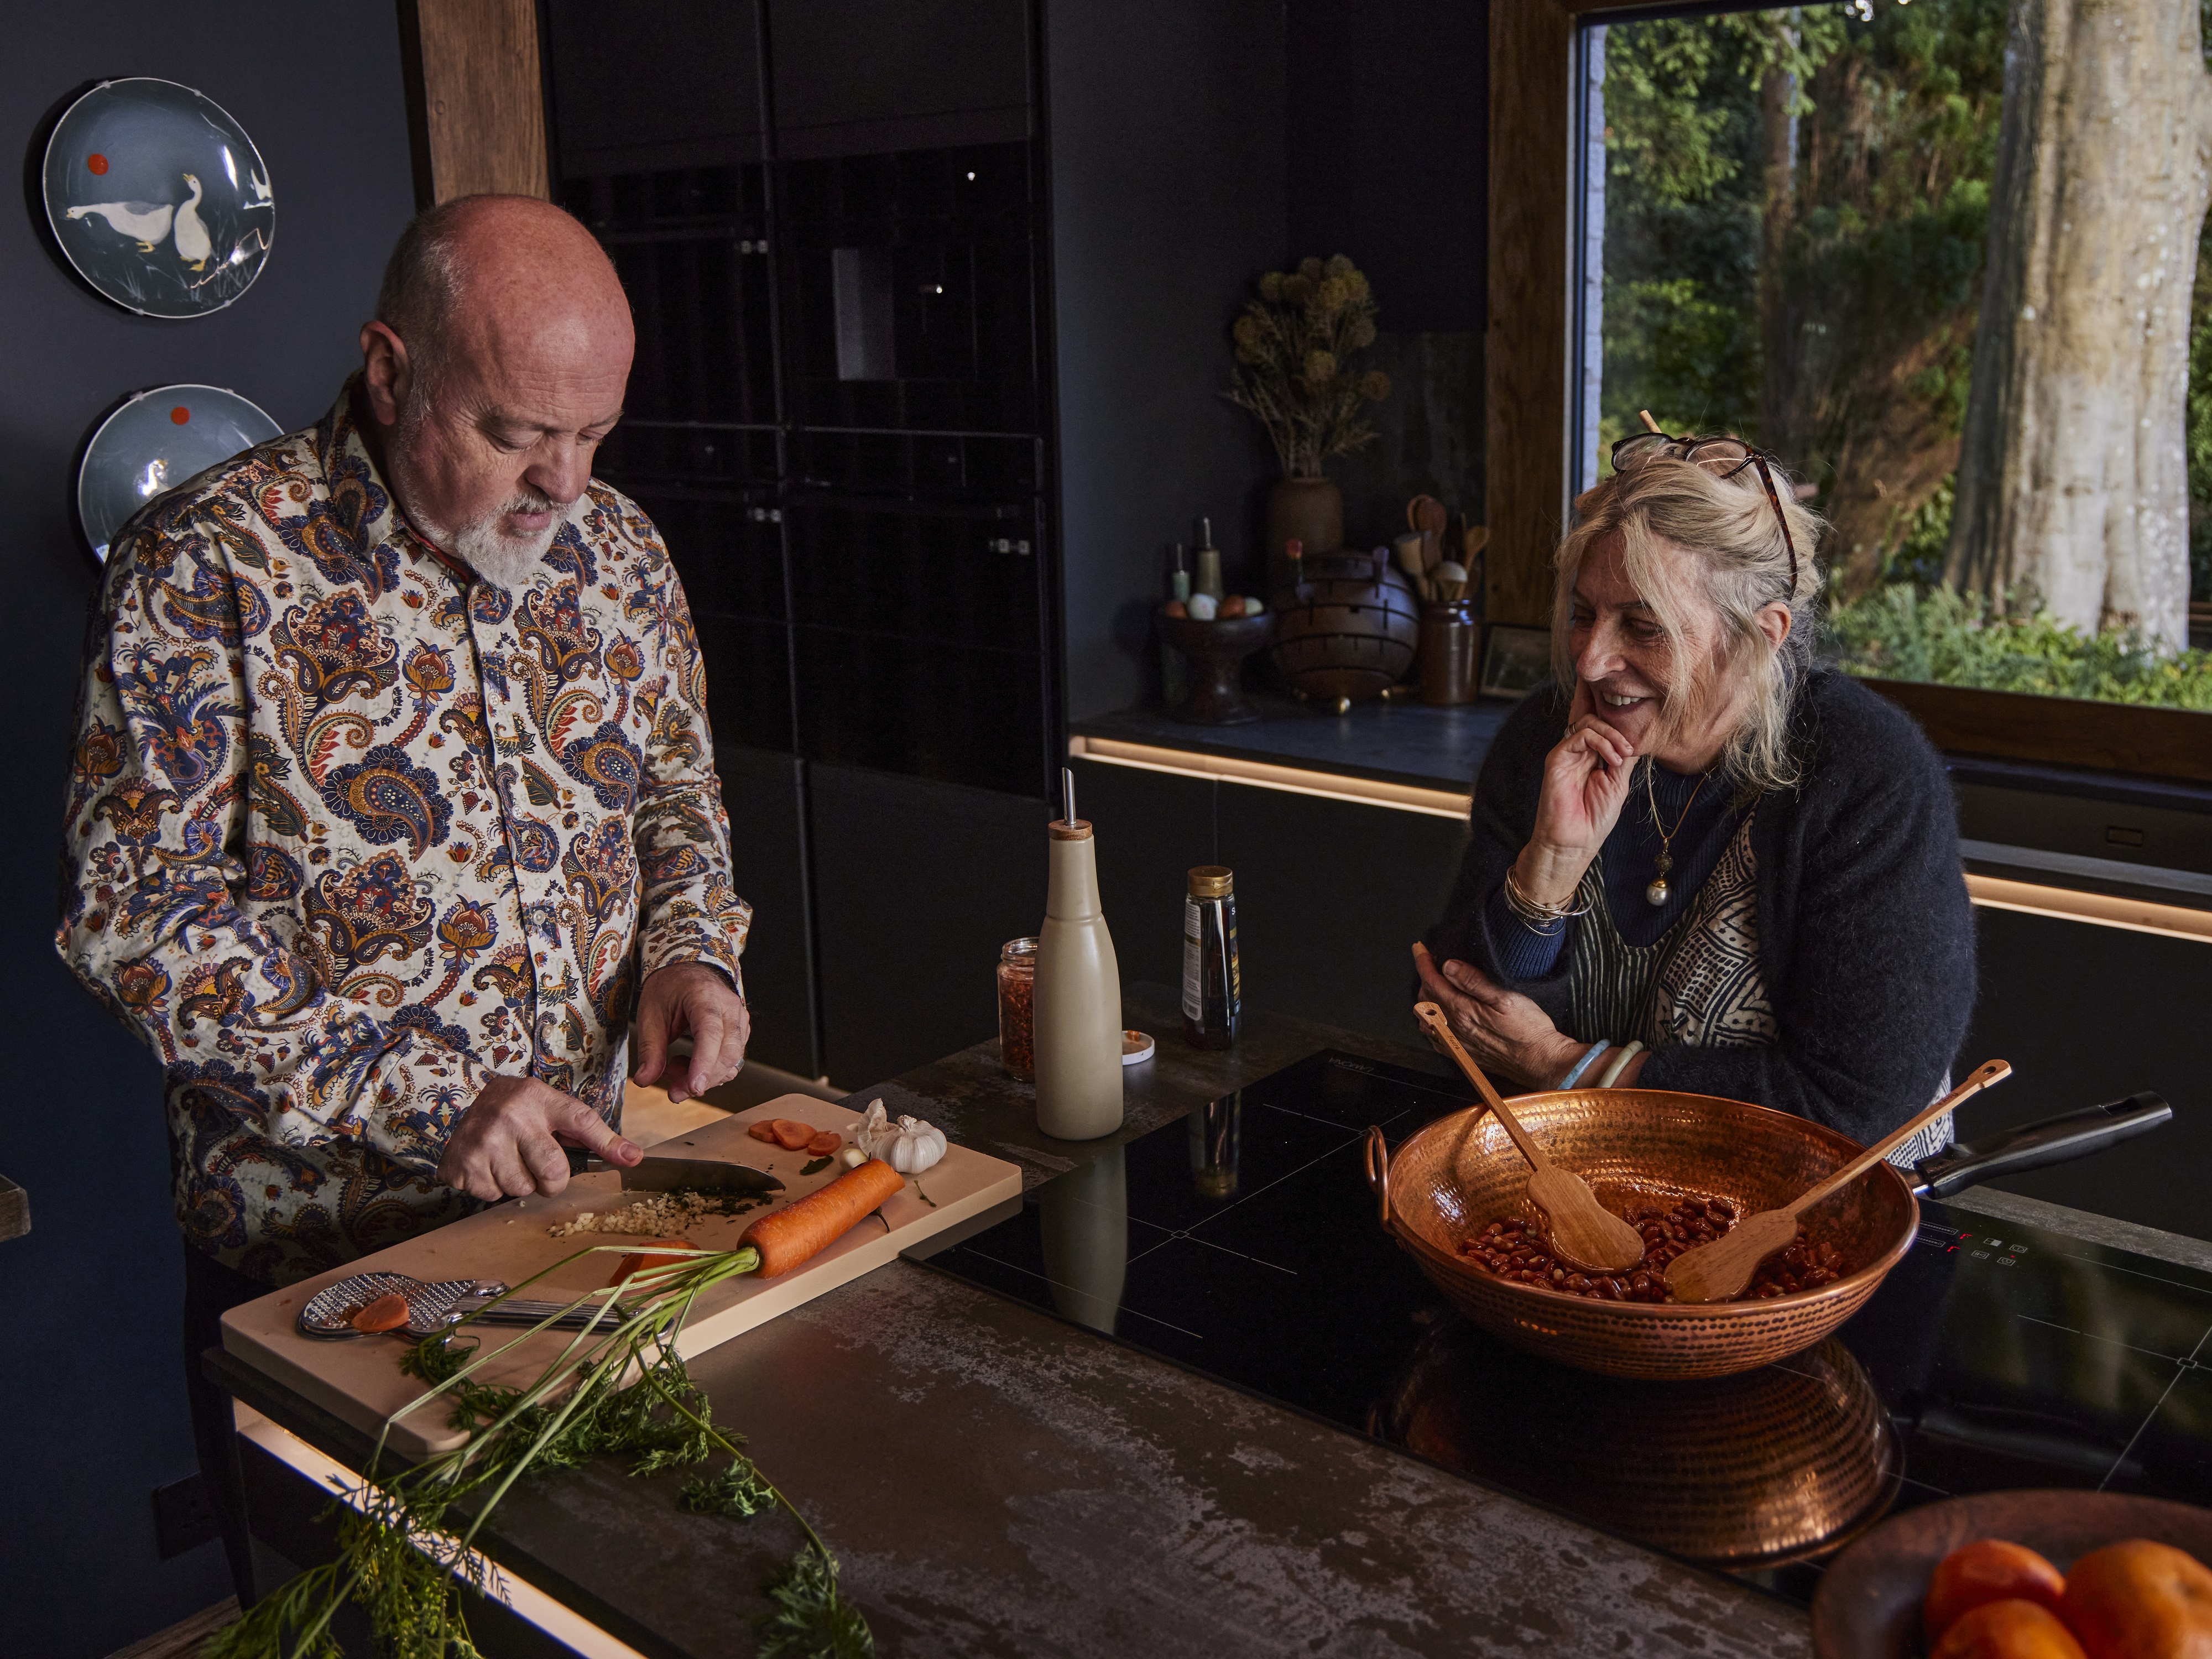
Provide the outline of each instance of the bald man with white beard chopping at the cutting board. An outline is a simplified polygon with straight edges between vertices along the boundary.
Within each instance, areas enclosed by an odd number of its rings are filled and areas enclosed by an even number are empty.
[[[166,1071],[210,1475],[223,1307],[635,1164],[633,1022],[675,1099],[743,1062],[690,613],[591,478],[630,349],[575,219],[445,204],[332,411],[113,542],[58,947]]]

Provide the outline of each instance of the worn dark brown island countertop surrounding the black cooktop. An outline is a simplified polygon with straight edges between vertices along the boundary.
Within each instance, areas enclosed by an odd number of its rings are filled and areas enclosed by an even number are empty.
[[[1159,1057],[1133,1071],[1106,1141],[1040,1135],[995,1042],[849,1104],[916,1110],[1035,1186],[1323,1046],[1442,1075],[1425,1051],[1259,1013],[1232,1051],[1199,1053],[1166,987],[1130,987],[1124,1009]],[[2212,1261],[2035,1208],[2020,1219]],[[210,1365],[358,1467],[358,1436],[228,1356]],[[703,1354],[692,1376],[830,1542],[885,1655],[1809,1655],[1805,1615],[1745,1584],[907,1261]],[[684,1515],[677,1484],[611,1460],[524,1482],[487,1551],[648,1655],[750,1652],[745,1619],[796,1528]]]

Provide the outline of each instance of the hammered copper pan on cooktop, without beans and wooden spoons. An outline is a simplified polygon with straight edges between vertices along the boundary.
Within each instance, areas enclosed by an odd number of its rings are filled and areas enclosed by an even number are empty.
[[[1728,1199],[1739,1217],[1774,1210],[1863,1150],[1803,1117],[1659,1088],[1522,1095],[1513,1115],[1615,1214],[1686,1197]],[[1396,1152],[1369,1130],[1367,1175],[1383,1225],[1475,1325],[1606,1376],[1730,1376],[1807,1349],[1858,1312],[1920,1225],[1905,1177],[1882,1164],[1803,1217],[1851,1267],[1836,1283],[1763,1301],[1606,1303],[1495,1279],[1460,1254],[1491,1221],[1542,1219],[1528,1164],[1489,1108],[1440,1117]]]

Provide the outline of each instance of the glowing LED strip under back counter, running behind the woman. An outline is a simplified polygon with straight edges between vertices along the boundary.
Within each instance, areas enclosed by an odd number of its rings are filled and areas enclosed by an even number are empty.
[[[1347,801],[1391,812],[1418,812],[1429,818],[1464,818],[1473,801],[1453,790],[1422,790],[1411,783],[1385,783],[1340,772],[1312,772],[1270,761],[1243,761],[1228,754],[1170,750],[1157,743],[1126,743],[1117,737],[1071,737],[1068,754],[1102,765],[1130,765],[1141,772],[1170,772],[1214,783],[1245,783],[1256,790],[1310,794],[1323,801]],[[2130,933],[2157,933],[2161,938],[2212,945],[2212,909],[2154,905],[2139,898],[2086,894],[2075,887],[2046,887],[2042,883],[1978,876],[1973,872],[1966,872],[1966,896],[1989,909],[2013,909],[2026,916],[2051,916],[2064,922],[2119,927]]]

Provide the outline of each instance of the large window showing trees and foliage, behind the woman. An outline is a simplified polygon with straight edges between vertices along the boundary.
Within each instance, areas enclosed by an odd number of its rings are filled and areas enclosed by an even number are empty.
[[[2006,111],[2039,0],[1586,27],[1577,484],[1646,409],[1741,434],[1829,518],[1854,670],[2212,710],[2212,243],[2172,161],[2197,4],[2121,0],[2115,62],[2042,46],[2046,88],[2128,75],[2099,131]],[[2022,135],[2042,161],[2006,173]]]

